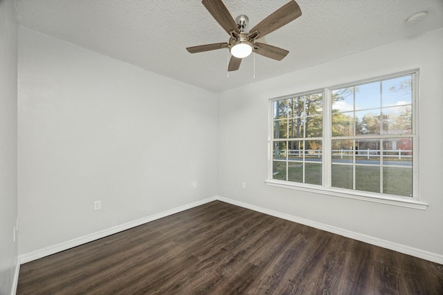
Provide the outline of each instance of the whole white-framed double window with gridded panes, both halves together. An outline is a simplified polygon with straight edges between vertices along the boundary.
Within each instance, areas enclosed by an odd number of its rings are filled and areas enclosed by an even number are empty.
[[[418,200],[417,74],[271,99],[268,182]]]

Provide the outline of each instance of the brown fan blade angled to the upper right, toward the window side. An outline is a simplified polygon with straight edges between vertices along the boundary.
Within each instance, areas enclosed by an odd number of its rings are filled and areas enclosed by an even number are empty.
[[[278,10],[275,10],[271,15],[260,21],[255,27],[253,27],[249,32],[250,35],[254,34],[255,31],[259,32],[259,38],[268,35],[270,32],[281,28],[287,23],[293,21],[297,17],[302,15],[302,10],[298,6],[297,2],[291,0],[290,2],[284,4]]]

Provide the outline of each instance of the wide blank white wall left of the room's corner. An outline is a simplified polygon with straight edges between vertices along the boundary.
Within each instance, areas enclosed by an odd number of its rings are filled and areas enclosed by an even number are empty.
[[[217,95],[19,28],[20,254],[215,196],[216,142]]]

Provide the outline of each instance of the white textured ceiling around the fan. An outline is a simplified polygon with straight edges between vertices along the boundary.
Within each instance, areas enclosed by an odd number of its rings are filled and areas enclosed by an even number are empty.
[[[289,50],[282,61],[251,55],[227,78],[226,49],[189,46],[228,41],[200,0],[16,0],[19,26],[220,93],[443,28],[442,0],[298,0],[302,16],[266,35]],[[224,0],[249,28],[289,0]],[[406,19],[426,10],[413,25]]]

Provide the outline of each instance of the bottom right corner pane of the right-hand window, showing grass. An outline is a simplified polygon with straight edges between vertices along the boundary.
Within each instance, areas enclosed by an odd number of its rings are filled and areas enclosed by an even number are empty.
[[[413,169],[383,167],[383,193],[413,196]]]

